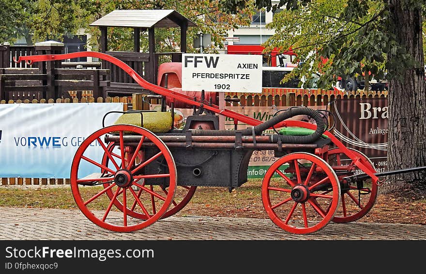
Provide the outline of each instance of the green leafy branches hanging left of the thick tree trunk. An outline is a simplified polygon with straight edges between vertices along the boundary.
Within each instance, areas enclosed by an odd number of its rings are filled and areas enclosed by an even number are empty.
[[[236,8],[234,1],[229,2],[230,7]],[[403,2],[414,9],[420,1]],[[421,2],[424,5],[425,1]],[[304,61],[294,73],[310,77],[320,72],[318,84],[323,88],[329,87],[336,76],[363,77],[367,72],[369,79],[390,79],[400,77],[408,67],[420,66],[396,41],[393,10],[388,1],[280,0],[273,5],[270,0],[256,0],[256,6],[272,10],[286,7],[267,25],[275,29],[275,34],[263,46],[292,48],[298,61]]]

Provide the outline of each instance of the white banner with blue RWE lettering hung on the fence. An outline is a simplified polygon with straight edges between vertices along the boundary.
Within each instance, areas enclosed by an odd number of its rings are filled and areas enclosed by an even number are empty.
[[[122,103],[0,104],[0,177],[69,178],[78,146],[106,113],[122,110]],[[105,126],[120,115],[108,114]],[[103,153],[91,149],[93,159]]]

